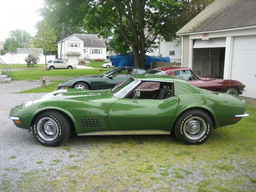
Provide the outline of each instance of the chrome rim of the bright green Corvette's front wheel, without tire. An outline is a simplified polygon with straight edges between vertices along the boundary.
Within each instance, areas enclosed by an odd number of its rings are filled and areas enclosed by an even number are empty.
[[[37,123],[37,133],[45,141],[53,141],[58,137],[59,127],[50,117],[43,117]]]

